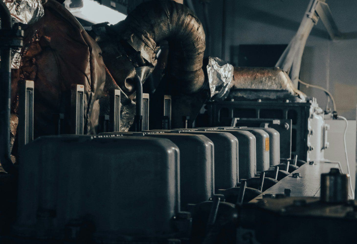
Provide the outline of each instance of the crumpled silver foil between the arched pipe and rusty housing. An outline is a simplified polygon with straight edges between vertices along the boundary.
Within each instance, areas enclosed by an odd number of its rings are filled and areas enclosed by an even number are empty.
[[[233,81],[233,65],[217,57],[208,57],[207,75],[211,101],[227,98]]]

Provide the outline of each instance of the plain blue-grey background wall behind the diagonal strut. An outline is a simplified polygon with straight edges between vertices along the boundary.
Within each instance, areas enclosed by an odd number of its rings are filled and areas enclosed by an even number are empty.
[[[202,5],[193,0],[196,14],[203,20]],[[342,32],[357,33],[357,1],[326,1]],[[239,45],[288,44],[295,35],[309,0],[226,0],[226,45],[222,56],[223,0],[211,1],[210,24],[212,56],[241,65],[236,56]],[[237,54],[238,50],[238,54]],[[234,53],[234,55],[232,55]],[[266,51],[262,51],[265,59]],[[356,119],[357,39],[331,41],[322,22],[308,38],[300,73],[301,80],[328,88],[335,97],[337,110],[348,119]],[[326,107],[325,93],[314,88],[300,88],[316,97]]]

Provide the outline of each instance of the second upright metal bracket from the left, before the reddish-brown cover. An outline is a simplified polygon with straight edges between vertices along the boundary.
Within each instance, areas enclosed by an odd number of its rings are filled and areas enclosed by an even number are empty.
[[[82,135],[84,128],[84,85],[71,85],[71,133]]]

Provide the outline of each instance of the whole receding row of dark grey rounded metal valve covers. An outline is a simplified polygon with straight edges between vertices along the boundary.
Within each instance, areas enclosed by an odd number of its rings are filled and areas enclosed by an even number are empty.
[[[276,131],[265,130],[272,141],[279,141]],[[90,215],[100,241],[168,238],[175,233],[171,222],[189,204],[224,194],[239,179],[278,165],[279,155],[270,161],[269,152],[269,135],[263,129],[41,137],[20,155],[26,163],[20,163],[15,231],[61,239],[66,226]],[[247,200],[262,193],[252,191]]]

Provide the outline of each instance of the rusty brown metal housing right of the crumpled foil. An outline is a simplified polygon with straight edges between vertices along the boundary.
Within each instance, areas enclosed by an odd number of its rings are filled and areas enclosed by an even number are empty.
[[[280,68],[234,67],[233,74],[229,98],[306,101],[306,95],[293,86],[287,73]]]

